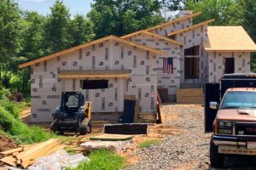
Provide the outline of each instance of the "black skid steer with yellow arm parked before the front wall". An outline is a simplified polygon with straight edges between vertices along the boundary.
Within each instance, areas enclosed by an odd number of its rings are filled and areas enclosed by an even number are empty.
[[[80,92],[62,92],[61,105],[55,110],[50,129],[55,133],[91,133],[90,102],[84,104]]]

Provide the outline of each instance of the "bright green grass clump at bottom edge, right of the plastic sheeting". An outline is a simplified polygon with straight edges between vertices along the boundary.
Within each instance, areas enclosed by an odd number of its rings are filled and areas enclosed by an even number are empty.
[[[74,170],[119,170],[124,167],[125,159],[109,150],[90,152],[89,162],[82,162]],[[70,170],[70,168],[67,168]]]

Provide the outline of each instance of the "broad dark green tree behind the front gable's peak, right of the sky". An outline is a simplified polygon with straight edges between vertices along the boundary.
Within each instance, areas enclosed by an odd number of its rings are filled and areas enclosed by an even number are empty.
[[[157,0],[96,0],[91,8],[88,17],[95,26],[96,38],[122,36],[164,20]]]

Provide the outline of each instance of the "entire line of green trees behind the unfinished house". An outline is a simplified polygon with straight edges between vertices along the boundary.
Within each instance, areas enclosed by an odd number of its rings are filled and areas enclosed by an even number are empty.
[[[214,26],[243,26],[256,42],[255,0],[95,0],[84,16],[71,16],[56,0],[46,16],[23,11],[17,0],[0,2],[0,83],[29,93],[29,68],[17,65],[108,35],[123,36],[177,17],[166,11],[202,11],[195,23],[214,18]],[[252,71],[256,71],[255,54]]]

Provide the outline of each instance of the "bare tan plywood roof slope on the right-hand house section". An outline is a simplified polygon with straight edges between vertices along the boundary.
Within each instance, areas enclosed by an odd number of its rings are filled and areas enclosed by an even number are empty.
[[[253,52],[256,45],[242,26],[208,26],[208,40],[202,42],[208,52]]]

